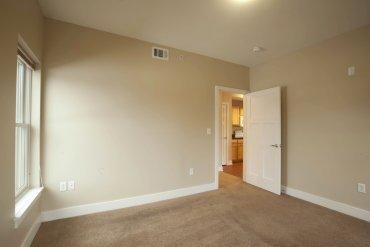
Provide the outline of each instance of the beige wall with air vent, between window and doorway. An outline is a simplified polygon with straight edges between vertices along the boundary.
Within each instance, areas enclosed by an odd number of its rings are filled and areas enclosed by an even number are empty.
[[[213,182],[214,86],[247,67],[53,20],[44,42],[44,210]]]

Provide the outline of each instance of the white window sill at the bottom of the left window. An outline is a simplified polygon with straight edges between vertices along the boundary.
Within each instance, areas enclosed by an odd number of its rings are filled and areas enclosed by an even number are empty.
[[[15,204],[14,225],[18,228],[22,223],[27,213],[40,197],[44,187],[30,189],[22,198]]]

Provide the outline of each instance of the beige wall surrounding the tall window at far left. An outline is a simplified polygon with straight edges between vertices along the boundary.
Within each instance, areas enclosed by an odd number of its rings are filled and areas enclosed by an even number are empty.
[[[19,246],[40,214],[37,202],[14,229],[14,123],[18,34],[41,58],[43,17],[37,0],[0,3],[0,245]]]

